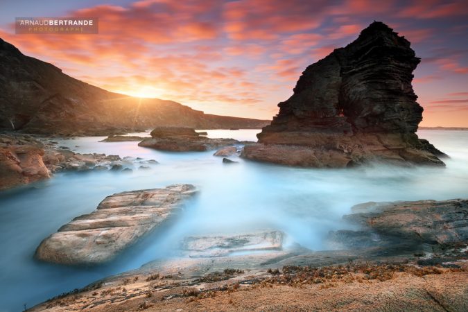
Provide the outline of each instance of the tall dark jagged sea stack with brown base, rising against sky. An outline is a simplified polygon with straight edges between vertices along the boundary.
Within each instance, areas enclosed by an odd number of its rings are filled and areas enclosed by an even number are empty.
[[[419,58],[381,22],[311,64],[279,114],[243,156],[266,162],[346,167],[370,161],[444,165],[415,134],[423,108],[411,80]]]

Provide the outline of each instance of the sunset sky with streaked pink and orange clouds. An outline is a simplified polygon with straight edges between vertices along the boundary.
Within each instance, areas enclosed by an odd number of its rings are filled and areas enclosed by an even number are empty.
[[[98,34],[15,35],[15,17],[98,17]],[[271,119],[304,69],[383,21],[422,62],[423,126],[468,127],[468,1],[0,0],[0,37],[64,73],[211,114]]]

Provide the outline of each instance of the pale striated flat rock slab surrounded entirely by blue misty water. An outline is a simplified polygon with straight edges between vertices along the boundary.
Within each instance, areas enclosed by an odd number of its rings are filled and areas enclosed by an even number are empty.
[[[183,208],[195,187],[127,191],[107,196],[91,214],[74,218],[40,243],[35,257],[62,264],[110,261]]]

